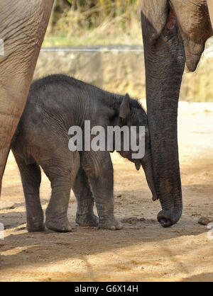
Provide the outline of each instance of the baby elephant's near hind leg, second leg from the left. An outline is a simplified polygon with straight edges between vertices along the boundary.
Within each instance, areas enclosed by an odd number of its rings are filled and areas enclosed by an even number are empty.
[[[67,218],[67,208],[70,200],[70,190],[75,182],[80,167],[78,152],[71,153],[59,150],[51,159],[43,161],[45,174],[51,182],[52,194],[46,210],[45,227],[55,232],[71,232],[72,228]],[[67,157],[62,158],[62,155]]]

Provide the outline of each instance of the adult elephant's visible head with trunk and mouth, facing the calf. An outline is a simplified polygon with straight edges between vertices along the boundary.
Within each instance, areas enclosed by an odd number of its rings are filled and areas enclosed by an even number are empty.
[[[213,31],[206,0],[142,0],[141,24],[153,176],[163,208],[158,221],[169,227],[182,214],[177,140],[182,74],[185,62],[195,71]]]

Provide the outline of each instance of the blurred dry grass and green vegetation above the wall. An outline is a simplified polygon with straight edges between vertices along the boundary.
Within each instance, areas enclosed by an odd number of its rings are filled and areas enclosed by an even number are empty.
[[[140,0],[57,0],[43,46],[142,44]]]

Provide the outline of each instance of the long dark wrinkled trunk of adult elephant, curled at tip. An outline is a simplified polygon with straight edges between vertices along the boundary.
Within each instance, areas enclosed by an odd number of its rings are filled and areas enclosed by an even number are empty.
[[[169,227],[182,215],[177,116],[185,52],[168,1],[143,0],[141,24],[153,178],[162,206],[158,221]]]

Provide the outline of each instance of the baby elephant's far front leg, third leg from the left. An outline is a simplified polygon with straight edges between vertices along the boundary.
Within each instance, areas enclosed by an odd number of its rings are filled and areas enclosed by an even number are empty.
[[[98,217],[94,215],[94,198],[89,187],[86,173],[80,166],[72,187],[77,199],[77,212],[75,222],[80,226],[97,226]]]

